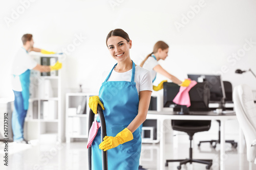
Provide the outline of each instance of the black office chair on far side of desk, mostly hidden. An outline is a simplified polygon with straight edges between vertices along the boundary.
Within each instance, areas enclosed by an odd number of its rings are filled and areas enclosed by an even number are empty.
[[[225,90],[225,103],[232,103],[233,99],[232,99],[232,84],[228,81],[223,81],[223,85],[224,85],[224,90]],[[205,140],[205,141],[200,141],[198,143],[198,146],[200,147],[201,143],[205,143],[205,142],[210,142],[210,145],[212,146],[212,148],[216,148],[217,143],[220,143],[220,138],[221,138],[221,122],[220,120],[217,120],[217,122],[219,123],[219,135],[218,135],[218,139],[217,140]],[[226,143],[231,143],[231,146],[233,148],[237,148],[238,147],[238,143],[235,142],[234,140],[225,140]],[[214,145],[212,145],[214,144]]]

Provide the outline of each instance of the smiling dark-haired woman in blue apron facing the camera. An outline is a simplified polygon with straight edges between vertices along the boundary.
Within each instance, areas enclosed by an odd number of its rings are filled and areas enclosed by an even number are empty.
[[[117,61],[102,83],[99,96],[89,106],[97,114],[100,104],[106,122],[104,141],[100,130],[92,143],[92,167],[101,169],[101,150],[108,150],[109,169],[137,170],[141,152],[141,127],[146,119],[152,93],[150,72],[131,60],[132,40],[121,29],[106,37],[111,56]],[[97,118],[99,121],[99,117]]]

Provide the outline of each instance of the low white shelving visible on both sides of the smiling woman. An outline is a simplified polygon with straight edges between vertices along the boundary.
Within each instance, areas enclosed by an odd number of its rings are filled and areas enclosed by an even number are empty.
[[[94,93],[67,93],[66,94],[66,142],[73,141],[74,138],[88,138],[88,116],[90,108],[88,106],[90,96],[98,94]],[[76,112],[78,105],[86,99],[86,114],[69,114],[69,109]],[[157,104],[161,104],[157,98]],[[160,106],[157,106],[160,108]],[[97,116],[97,115],[96,115]],[[96,117],[95,116],[95,117]],[[75,120],[74,120],[75,119]],[[142,142],[143,143],[158,143],[159,135],[157,130],[160,129],[160,124],[157,119],[147,119],[148,123],[142,127]],[[149,135],[148,135],[149,134]]]

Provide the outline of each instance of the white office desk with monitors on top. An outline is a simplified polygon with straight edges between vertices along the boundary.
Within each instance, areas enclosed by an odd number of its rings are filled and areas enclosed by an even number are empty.
[[[165,148],[165,125],[164,120],[179,119],[179,120],[220,120],[221,122],[221,142],[220,142],[220,169],[225,169],[225,122],[229,119],[237,119],[233,114],[216,114],[212,111],[209,112],[194,112],[198,115],[177,115],[173,111],[148,111],[147,119],[157,119],[160,124],[160,129],[157,129],[157,135],[160,135],[160,170],[164,169],[166,158],[164,156]],[[158,126],[159,127],[159,126]]]

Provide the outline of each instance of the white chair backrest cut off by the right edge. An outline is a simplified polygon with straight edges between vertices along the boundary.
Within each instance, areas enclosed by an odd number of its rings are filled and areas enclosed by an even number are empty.
[[[252,90],[248,85],[242,84],[233,90],[234,110],[238,122],[245,136],[247,160],[256,164],[256,108],[253,102]]]

